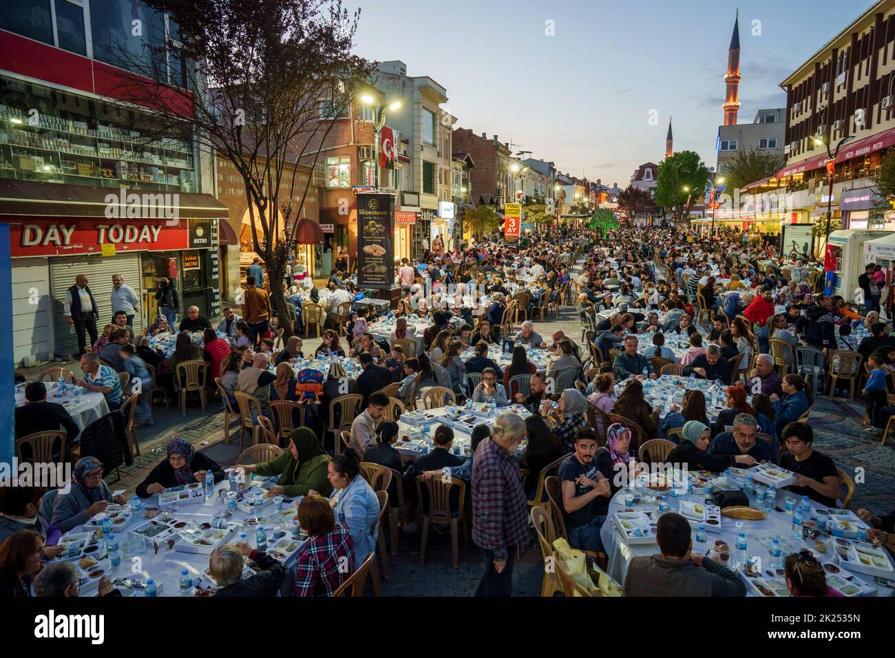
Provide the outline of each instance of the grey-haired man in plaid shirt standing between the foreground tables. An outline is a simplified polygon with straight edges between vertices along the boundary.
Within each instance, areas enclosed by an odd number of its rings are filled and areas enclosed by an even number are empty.
[[[516,449],[525,423],[516,414],[500,414],[491,436],[473,457],[473,542],[482,549],[485,575],[476,596],[509,596],[516,547],[528,538],[527,503]]]

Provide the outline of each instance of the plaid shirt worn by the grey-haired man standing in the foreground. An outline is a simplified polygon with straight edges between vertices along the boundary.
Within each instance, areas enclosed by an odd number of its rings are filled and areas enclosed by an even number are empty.
[[[527,503],[519,464],[493,440],[485,439],[473,457],[473,542],[507,560],[509,547],[529,536]]]

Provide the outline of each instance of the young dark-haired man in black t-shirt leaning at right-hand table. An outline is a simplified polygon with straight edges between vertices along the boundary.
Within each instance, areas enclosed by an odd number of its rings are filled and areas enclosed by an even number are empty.
[[[780,457],[780,466],[797,474],[796,483],[788,490],[797,496],[836,507],[840,495],[839,474],[830,457],[812,448],[814,431],[808,423],[789,423],[783,428],[783,443],[787,451]]]

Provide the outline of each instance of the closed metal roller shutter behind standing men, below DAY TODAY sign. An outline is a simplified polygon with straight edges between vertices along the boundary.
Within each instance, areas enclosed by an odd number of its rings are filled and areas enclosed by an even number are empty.
[[[97,255],[65,256],[50,259],[50,286],[53,295],[53,321],[55,329],[55,353],[71,355],[77,352],[78,338],[74,327],[65,320],[65,291],[74,285],[74,278],[86,274],[87,285],[99,306],[97,335],[102,335],[103,327],[112,321],[112,275],[120,274],[124,283],[131,286],[137,296],[142,299],[140,254],[128,253],[103,258]],[[133,331],[140,333],[143,329],[143,314],[138,312],[133,318]],[[88,336],[90,340],[90,336]]]

